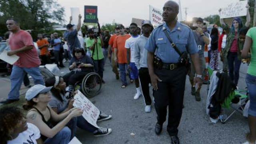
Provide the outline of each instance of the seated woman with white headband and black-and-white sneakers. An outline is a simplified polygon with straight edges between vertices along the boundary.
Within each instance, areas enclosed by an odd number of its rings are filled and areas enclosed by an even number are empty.
[[[57,114],[62,114],[73,108],[74,99],[68,100],[65,97],[66,83],[64,82],[62,77],[55,76],[52,78],[48,78],[45,81],[45,85],[53,86],[51,90],[52,100],[49,102],[52,110],[54,110]],[[100,116],[97,121],[99,122],[102,120],[108,120],[111,117],[111,115],[106,115],[100,112]],[[82,116],[77,117],[76,124],[74,125],[73,129],[76,129],[76,126],[83,130],[92,132],[94,136],[105,136],[107,134],[110,134],[110,132],[112,131],[111,128],[96,128],[95,126],[92,126],[90,123],[88,123]]]

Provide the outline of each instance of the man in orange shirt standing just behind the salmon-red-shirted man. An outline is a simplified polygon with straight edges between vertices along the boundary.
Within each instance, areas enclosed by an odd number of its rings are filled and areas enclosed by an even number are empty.
[[[43,39],[42,34],[38,34],[37,37],[38,37],[38,40],[36,43],[40,50],[42,65],[49,64],[50,63],[49,62],[49,52],[48,52],[49,43],[47,40]]]

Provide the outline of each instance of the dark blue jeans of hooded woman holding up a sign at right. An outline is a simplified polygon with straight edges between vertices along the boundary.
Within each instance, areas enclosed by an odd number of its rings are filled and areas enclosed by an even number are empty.
[[[235,85],[238,84],[239,70],[241,65],[241,60],[238,59],[236,52],[228,52],[228,69],[229,77]]]

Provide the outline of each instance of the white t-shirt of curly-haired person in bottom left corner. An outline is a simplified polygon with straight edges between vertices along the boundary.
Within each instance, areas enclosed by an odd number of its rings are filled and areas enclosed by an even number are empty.
[[[37,140],[40,138],[39,129],[31,123],[27,123],[28,129],[21,132],[17,138],[7,141],[7,144],[39,144]]]

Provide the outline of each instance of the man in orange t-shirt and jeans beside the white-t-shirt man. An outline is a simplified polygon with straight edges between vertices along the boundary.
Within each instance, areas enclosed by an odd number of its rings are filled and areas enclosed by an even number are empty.
[[[119,29],[120,35],[116,37],[116,40],[113,45],[114,61],[118,62],[122,80],[122,88],[126,88],[127,49],[124,47],[124,45],[126,40],[130,38],[130,35],[124,33],[124,26],[122,24],[119,24],[117,28]]]

